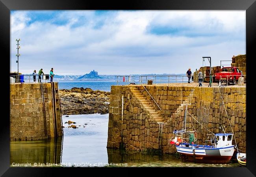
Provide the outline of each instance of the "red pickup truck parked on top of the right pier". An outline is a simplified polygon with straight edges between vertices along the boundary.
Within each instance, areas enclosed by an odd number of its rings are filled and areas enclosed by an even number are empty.
[[[241,76],[243,76],[242,72],[237,67],[223,67],[221,72],[215,74],[215,81],[228,80],[235,84]]]

